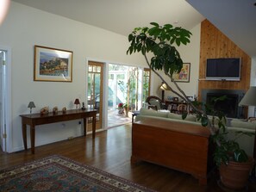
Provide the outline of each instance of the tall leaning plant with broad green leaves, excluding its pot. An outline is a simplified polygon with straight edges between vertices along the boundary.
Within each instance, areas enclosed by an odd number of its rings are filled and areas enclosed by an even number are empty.
[[[127,53],[142,53],[146,59],[147,65],[160,80],[166,84],[168,90],[171,90],[175,95],[190,105],[190,108],[197,114],[197,119],[201,121],[203,127],[209,127],[215,143],[214,160],[215,163],[220,166],[221,173],[222,168],[227,166],[227,164],[231,164],[231,162],[237,162],[238,164],[246,164],[249,162],[248,167],[251,169],[253,164],[252,158],[247,158],[247,154],[240,149],[235,139],[228,140],[226,138],[225,115],[220,111],[214,111],[207,105],[203,106],[203,103],[191,102],[172,77],[172,74],[181,71],[183,66],[183,60],[174,45],[180,46],[190,43],[190,31],[184,28],[174,28],[171,24],[165,24],[164,26],[159,26],[156,22],[150,24],[151,28],[134,28],[134,31],[128,35],[130,46],[128,47]],[[164,71],[170,81],[166,81],[159,71]],[[173,89],[173,86],[176,87],[176,89]],[[216,101],[217,99],[215,102]],[[208,115],[209,111],[213,113],[211,120]],[[183,118],[185,118],[186,115],[187,113],[184,113]],[[215,116],[217,118],[215,118]],[[215,123],[215,120],[217,120],[217,123]],[[245,181],[247,181],[248,173],[246,175],[246,178],[243,179]],[[223,180],[222,182],[224,183]]]

